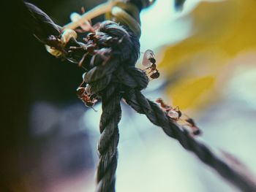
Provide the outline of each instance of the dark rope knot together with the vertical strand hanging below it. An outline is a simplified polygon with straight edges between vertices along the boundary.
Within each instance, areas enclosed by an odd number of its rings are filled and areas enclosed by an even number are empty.
[[[125,30],[113,22],[103,22],[96,32],[99,53],[91,58],[91,69],[84,75],[91,93],[102,99],[102,115],[99,123],[101,137],[98,143],[99,164],[97,169],[97,191],[115,191],[115,175],[117,166],[118,123],[121,120],[120,101],[123,86],[146,88],[148,77],[140,69],[135,68],[139,55],[139,42],[135,34]],[[110,47],[104,47],[109,38],[121,39]],[[102,55],[108,60],[102,59]],[[136,78],[142,78],[138,85]],[[126,80],[128,77],[128,80]],[[123,83],[122,83],[123,82]]]

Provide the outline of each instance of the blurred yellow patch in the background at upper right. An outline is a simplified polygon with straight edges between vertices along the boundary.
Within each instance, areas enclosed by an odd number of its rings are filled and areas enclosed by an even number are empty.
[[[192,18],[191,36],[162,50],[159,69],[173,105],[196,110],[216,98],[216,82],[233,70],[227,65],[256,51],[256,1],[201,1],[186,18]]]

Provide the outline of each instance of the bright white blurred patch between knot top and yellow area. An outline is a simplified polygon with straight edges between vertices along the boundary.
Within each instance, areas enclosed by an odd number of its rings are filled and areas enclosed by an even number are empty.
[[[181,12],[176,12],[172,0],[156,1],[140,14],[141,51],[154,50],[162,45],[170,45],[189,36],[191,20],[182,19],[200,0],[188,0]]]

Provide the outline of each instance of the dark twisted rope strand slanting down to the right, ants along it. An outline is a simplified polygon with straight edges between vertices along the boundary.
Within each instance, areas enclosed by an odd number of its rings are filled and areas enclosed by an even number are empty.
[[[241,191],[256,191],[255,182],[246,179],[245,175],[236,171],[233,167],[226,164],[225,161],[222,161],[222,159],[214,155],[206,145],[197,142],[197,140],[191,137],[184,128],[173,123],[173,121],[168,118],[167,114],[163,112],[157,104],[146,99],[140,91],[129,89],[124,93],[124,99],[135,111],[146,115],[152,123],[156,126],[160,126],[163,131],[165,131],[165,134],[177,139],[182,147],[192,153],[195,153],[195,155],[197,155],[204,164],[211,166],[211,168],[217,171],[222,177],[240,188]]]

